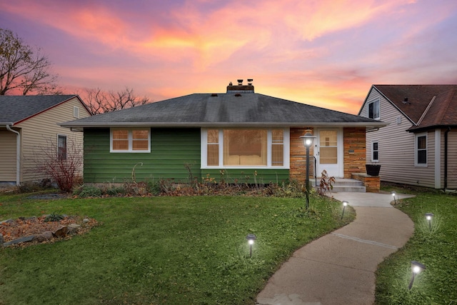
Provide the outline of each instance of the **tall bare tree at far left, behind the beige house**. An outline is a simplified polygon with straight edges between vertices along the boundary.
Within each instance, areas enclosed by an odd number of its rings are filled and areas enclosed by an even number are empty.
[[[0,95],[61,93],[50,69],[41,49],[34,50],[12,31],[0,29]]]

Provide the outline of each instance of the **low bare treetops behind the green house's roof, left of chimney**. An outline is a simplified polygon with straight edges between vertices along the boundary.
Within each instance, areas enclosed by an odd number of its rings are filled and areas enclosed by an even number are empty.
[[[105,92],[99,88],[86,89],[86,94],[84,95],[84,101],[91,114],[102,114],[104,112],[131,108],[150,102],[146,96],[136,96],[134,89],[129,89],[129,87],[116,92]]]

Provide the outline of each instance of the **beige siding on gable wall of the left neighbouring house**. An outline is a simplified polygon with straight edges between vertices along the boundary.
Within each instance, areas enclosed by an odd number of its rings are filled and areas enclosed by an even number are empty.
[[[67,141],[74,141],[76,145],[82,144],[83,134],[81,132],[71,131],[68,128],[57,125],[57,123],[74,119],[74,106],[79,107],[80,118],[90,116],[75,97],[17,125],[22,129],[21,181],[39,181],[46,178],[39,176],[34,171],[36,155],[39,154],[43,147],[48,145],[46,141],[51,141],[53,145],[56,145],[57,135],[62,134],[67,136]],[[79,174],[82,174],[82,168]]]

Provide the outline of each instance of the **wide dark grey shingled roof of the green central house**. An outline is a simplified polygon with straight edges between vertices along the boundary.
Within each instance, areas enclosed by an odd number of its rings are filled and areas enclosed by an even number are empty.
[[[60,124],[113,126],[386,126],[383,122],[256,94],[190,94]]]

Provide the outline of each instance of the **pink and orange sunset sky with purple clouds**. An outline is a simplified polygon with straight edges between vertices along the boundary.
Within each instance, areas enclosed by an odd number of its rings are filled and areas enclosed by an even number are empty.
[[[456,0],[14,0],[66,94],[256,93],[357,114],[372,84],[457,84]]]

